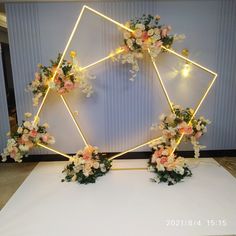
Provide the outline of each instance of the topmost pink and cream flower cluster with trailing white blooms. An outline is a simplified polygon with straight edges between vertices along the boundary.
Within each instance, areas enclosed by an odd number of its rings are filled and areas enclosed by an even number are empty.
[[[138,59],[143,58],[144,52],[149,51],[154,58],[162,51],[161,46],[170,47],[174,41],[174,36],[169,35],[171,26],[160,25],[160,16],[143,15],[126,22],[125,26],[133,30],[133,33],[125,31],[124,53],[117,56],[117,60],[122,64],[131,64],[130,70],[134,80],[139,71]]]

